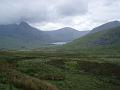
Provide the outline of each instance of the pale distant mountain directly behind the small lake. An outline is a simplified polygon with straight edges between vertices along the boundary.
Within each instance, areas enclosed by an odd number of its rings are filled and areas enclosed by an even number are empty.
[[[84,36],[89,31],[78,31],[70,27],[61,28],[54,31],[46,31],[56,42],[68,42]]]

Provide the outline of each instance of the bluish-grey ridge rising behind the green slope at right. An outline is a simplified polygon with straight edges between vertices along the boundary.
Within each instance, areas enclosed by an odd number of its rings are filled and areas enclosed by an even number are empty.
[[[109,29],[119,27],[119,26],[120,26],[119,21],[112,21],[112,22],[108,22],[108,23],[105,23],[103,25],[100,25],[100,26],[94,28],[91,32],[94,33],[94,32],[98,32],[98,31],[102,31],[102,30],[109,30]]]

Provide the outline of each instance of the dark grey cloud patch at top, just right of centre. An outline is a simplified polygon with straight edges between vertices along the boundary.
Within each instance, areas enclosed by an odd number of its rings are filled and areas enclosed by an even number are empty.
[[[61,5],[58,9],[59,13],[63,16],[76,16],[86,14],[88,8],[85,0],[70,0],[68,3]]]

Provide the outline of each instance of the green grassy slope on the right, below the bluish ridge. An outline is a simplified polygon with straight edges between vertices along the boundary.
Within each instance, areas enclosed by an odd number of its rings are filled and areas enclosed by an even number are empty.
[[[60,51],[89,53],[120,53],[120,27],[89,33],[61,46]]]

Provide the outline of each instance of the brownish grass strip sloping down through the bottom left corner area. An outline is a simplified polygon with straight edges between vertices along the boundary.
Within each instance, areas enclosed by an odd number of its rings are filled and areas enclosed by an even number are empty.
[[[16,71],[7,62],[0,62],[0,73],[4,73],[7,83],[23,90],[58,90],[52,84]]]

